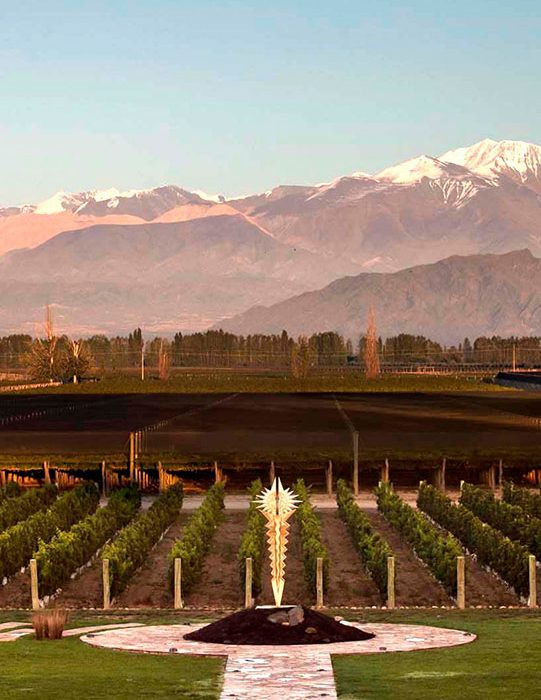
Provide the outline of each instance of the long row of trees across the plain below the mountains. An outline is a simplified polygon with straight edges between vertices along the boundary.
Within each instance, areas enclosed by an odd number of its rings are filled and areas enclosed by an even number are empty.
[[[85,340],[57,335],[47,310],[44,337],[10,335],[0,338],[0,371],[26,368],[40,381],[77,381],[89,372],[105,373],[151,367],[162,379],[174,367],[289,368],[305,377],[314,367],[364,366],[369,377],[381,368],[412,365],[541,366],[541,337],[465,338],[445,347],[420,335],[399,334],[382,339],[369,312],[366,332],[354,348],[338,333],[294,338],[280,334],[239,336],[224,331],[177,333],[172,339],[146,340],[137,328],[127,336],[95,335]]]

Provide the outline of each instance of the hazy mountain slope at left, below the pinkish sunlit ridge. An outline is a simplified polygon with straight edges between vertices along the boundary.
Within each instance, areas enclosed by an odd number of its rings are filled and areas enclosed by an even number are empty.
[[[77,332],[199,329],[337,274],[241,215],[93,226],[0,258],[0,330],[33,330],[46,303]]]

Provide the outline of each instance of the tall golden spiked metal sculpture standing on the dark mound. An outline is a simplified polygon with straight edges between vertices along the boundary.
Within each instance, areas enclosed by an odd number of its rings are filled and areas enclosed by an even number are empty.
[[[295,512],[299,499],[291,489],[284,489],[280,479],[275,479],[270,489],[263,489],[263,493],[256,496],[256,502],[267,519],[272,592],[274,603],[279,606],[284,593],[288,520]]]

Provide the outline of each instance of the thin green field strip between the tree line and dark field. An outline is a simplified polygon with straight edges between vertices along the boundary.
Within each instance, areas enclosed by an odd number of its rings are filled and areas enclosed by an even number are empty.
[[[167,381],[136,377],[104,377],[99,382],[65,384],[60,387],[28,390],[33,394],[140,394],[140,393],[284,393],[284,392],[494,392],[511,391],[473,375],[385,374],[366,379],[361,371],[314,374],[295,379],[287,372],[233,372],[227,370],[178,373]]]

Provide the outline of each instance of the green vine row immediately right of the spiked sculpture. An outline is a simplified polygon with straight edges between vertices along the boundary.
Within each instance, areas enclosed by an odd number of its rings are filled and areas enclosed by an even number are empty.
[[[323,582],[326,586],[329,580],[329,552],[321,541],[321,522],[310,503],[310,492],[304,481],[299,479],[294,487],[300,498],[295,518],[299,523],[301,533],[302,559],[304,565],[304,580],[308,589],[316,593],[317,560],[323,559]]]

